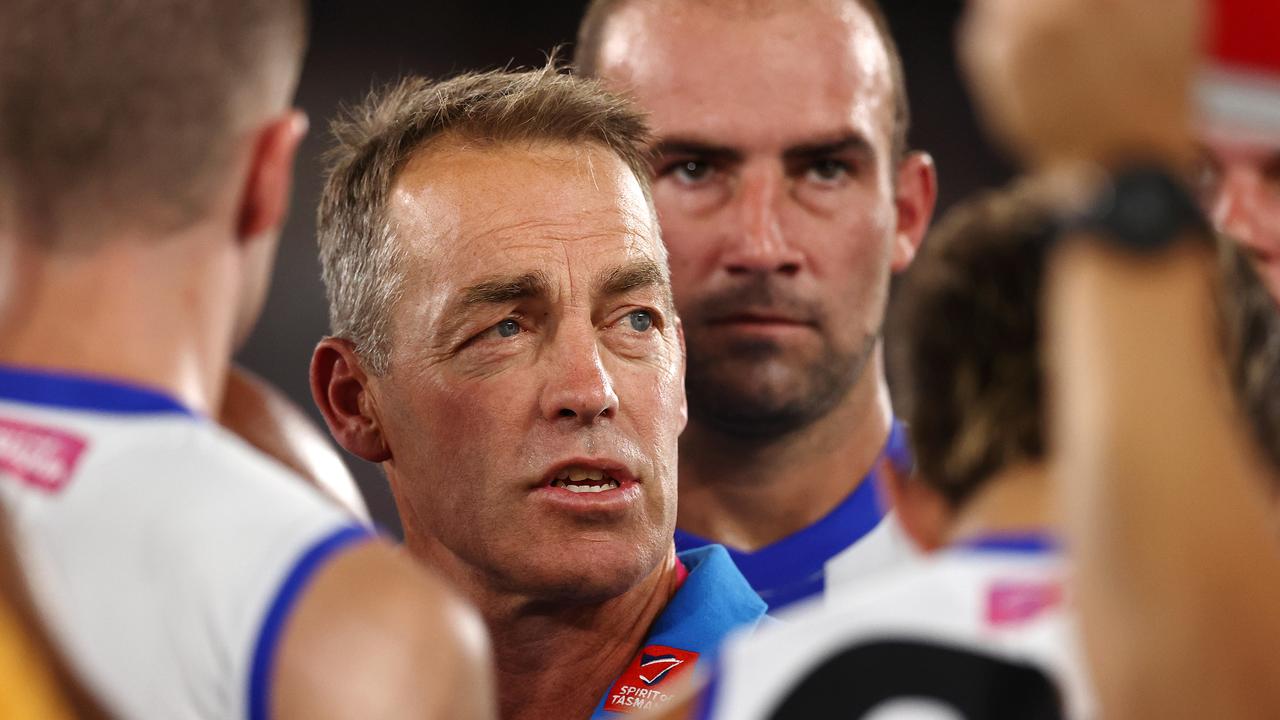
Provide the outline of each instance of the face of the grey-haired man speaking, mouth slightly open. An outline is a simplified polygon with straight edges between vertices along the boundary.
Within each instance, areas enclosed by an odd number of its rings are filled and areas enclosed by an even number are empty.
[[[372,388],[411,547],[507,592],[628,589],[671,552],[685,423],[640,184],[590,146],[439,149],[392,214],[407,275]]]

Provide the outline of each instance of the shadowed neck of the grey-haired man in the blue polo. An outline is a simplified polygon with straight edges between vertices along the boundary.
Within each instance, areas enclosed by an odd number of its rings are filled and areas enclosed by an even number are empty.
[[[675,548],[622,594],[573,603],[495,588],[438,542],[406,530],[410,551],[442,571],[485,619],[502,720],[589,717],[677,589]]]

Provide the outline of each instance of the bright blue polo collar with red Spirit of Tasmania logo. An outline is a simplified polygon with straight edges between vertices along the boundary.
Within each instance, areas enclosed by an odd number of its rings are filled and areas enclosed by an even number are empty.
[[[675,678],[709,670],[733,630],[754,628],[768,607],[728,552],[708,544],[678,553],[689,577],[649,629],[640,652],[609,687],[591,720],[623,717],[660,706]]]

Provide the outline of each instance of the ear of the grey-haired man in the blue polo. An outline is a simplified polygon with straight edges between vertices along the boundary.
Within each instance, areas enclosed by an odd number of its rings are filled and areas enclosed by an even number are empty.
[[[369,388],[351,342],[326,337],[311,354],[311,397],[338,445],[370,462],[390,460]]]

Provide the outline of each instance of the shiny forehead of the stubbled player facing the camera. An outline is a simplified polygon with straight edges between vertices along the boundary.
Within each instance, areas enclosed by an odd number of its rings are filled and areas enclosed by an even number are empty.
[[[856,129],[888,142],[888,54],[852,0],[635,0],[604,29],[600,74],[659,136],[763,145]]]

